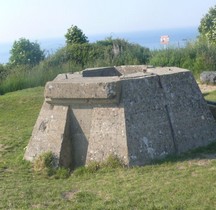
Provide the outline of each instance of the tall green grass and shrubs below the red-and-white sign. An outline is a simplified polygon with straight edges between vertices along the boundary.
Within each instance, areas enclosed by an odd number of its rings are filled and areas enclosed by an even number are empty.
[[[186,68],[198,78],[202,71],[216,71],[215,58],[216,45],[199,40],[188,42],[184,48],[169,47],[152,51],[150,64]]]

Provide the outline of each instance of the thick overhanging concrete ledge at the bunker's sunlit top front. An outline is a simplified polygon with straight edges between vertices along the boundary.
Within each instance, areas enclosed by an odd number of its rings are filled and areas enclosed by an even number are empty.
[[[45,97],[47,102],[55,103],[72,100],[85,103],[85,100],[94,103],[97,99],[104,103],[118,102],[120,94],[120,79],[118,77],[80,77],[75,79],[63,79],[60,81],[47,82]]]

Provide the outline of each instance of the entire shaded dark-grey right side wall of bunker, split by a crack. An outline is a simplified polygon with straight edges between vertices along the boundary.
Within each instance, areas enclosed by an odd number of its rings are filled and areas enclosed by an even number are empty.
[[[215,120],[191,72],[156,73],[122,80],[130,165],[216,140]]]

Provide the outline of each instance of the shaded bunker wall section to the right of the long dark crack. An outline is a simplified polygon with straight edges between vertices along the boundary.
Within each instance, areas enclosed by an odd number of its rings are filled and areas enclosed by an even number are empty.
[[[191,72],[160,76],[174,132],[176,152],[181,153],[216,140],[215,120]]]

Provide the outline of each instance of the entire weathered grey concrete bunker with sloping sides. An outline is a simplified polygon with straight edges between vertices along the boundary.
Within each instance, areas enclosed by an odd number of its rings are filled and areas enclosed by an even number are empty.
[[[145,165],[216,140],[215,120],[190,71],[120,66],[83,72],[47,83],[27,160],[53,151],[57,164],[71,168],[110,154],[129,166]]]

